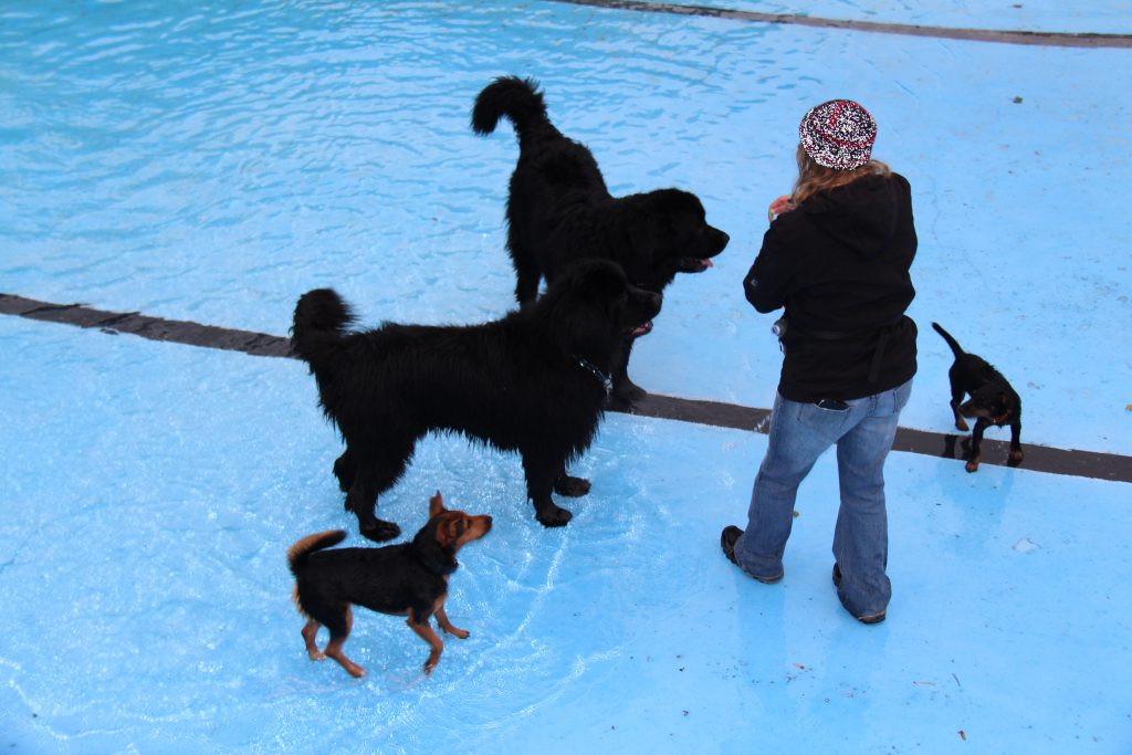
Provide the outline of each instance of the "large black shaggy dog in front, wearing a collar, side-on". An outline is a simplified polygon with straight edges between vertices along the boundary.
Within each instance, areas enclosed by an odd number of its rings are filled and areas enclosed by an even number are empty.
[[[566,464],[593,439],[618,344],[660,304],[659,294],[602,260],[578,263],[535,304],[481,325],[385,324],[351,333],[353,314],[337,293],[305,293],[294,310],[294,350],[345,440],[334,474],[361,534],[383,541],[401,533],[374,514],[377,497],[434,430],[517,451],[535,517],[546,526],[569,522],[550,492],[589,492]]]

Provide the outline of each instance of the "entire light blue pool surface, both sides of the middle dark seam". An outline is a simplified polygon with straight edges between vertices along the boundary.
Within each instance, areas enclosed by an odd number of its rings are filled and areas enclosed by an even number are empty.
[[[1127,31],[1118,2],[1023,5],[1043,27]],[[319,285],[367,323],[497,317],[516,147],[468,117],[517,72],[615,191],[692,189],[732,235],[670,288],[634,376],[758,406],[780,355],[739,281],[801,112],[857,97],[916,191],[903,423],[950,428],[937,319],[1012,378],[1023,443],[1132,453],[1126,50],[542,2],[9,2],[0,44],[0,291],[280,335]],[[473,634],[424,679],[401,620],[359,617],[357,683],[306,660],[289,601],[286,546],[352,527],[301,364],[12,318],[0,354],[0,746],[1132,749],[1126,484],[895,455],[895,598],[865,628],[829,584],[830,460],[764,587],[718,552],[761,436],[611,417],[581,464],[594,492],[556,532],[516,458],[434,438],[383,512],[411,530],[441,488],[496,517],[454,580]]]

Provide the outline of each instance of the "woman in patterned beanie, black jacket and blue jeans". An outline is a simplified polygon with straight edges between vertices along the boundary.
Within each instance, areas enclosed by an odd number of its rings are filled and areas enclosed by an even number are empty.
[[[884,460],[916,374],[911,189],[872,160],[876,122],[832,100],[799,127],[794,192],[770,206],[771,226],[744,281],[775,323],[784,359],[770,445],[755,477],[747,529],[728,526],[723,554],[764,583],[782,578],[798,486],[817,457],[838,448],[841,507],[833,583],[846,609],[883,621],[892,587]]]

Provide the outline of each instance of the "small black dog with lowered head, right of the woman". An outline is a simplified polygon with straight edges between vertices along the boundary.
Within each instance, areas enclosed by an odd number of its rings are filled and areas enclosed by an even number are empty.
[[[932,323],[932,327],[943,336],[955,354],[955,361],[947,370],[947,377],[951,379],[951,411],[955,415],[955,427],[966,431],[968,427],[963,418],[975,420],[967,471],[975,472],[979,469],[983,431],[992,424],[1010,426],[1009,463],[1011,466],[1017,466],[1022,462],[1022,400],[1006,378],[985,359],[963,351],[959,342],[940,327],[938,323]],[[963,402],[963,396],[967,394],[970,398]]]

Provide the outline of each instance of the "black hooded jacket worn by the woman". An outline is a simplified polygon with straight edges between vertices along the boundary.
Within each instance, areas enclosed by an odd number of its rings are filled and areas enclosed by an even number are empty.
[[[779,215],[743,288],[760,312],[786,307],[779,393],[847,401],[916,374],[911,187],[869,175]]]

